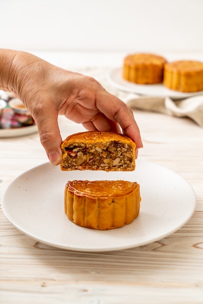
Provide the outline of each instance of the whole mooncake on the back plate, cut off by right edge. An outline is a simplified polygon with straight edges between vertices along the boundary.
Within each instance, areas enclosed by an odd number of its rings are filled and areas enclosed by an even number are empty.
[[[203,90],[203,62],[181,60],[167,63],[164,68],[163,84],[180,92]]]

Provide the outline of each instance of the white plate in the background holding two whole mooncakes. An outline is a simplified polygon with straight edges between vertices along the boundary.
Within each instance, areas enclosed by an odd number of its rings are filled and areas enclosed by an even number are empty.
[[[113,69],[108,75],[107,80],[110,84],[120,90],[156,97],[170,97],[172,99],[187,98],[190,96],[202,95],[203,91],[182,93],[170,90],[163,84],[133,84],[122,77],[122,68]]]

